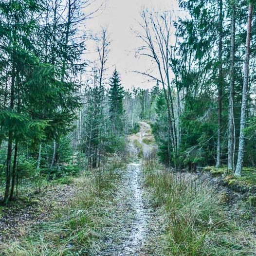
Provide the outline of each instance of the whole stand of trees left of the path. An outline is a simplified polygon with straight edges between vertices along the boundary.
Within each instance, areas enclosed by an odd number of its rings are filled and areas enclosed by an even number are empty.
[[[81,170],[97,169],[101,178],[108,156],[124,152],[125,136],[138,130],[141,106],[146,115],[142,94],[149,92],[125,91],[118,71],[110,75],[107,30],[84,27],[101,7],[89,11],[93,2],[0,3],[3,204]],[[88,40],[93,61],[84,57]]]

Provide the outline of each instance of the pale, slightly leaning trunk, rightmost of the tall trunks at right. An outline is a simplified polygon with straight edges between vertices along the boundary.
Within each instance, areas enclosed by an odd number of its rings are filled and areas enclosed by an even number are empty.
[[[242,165],[243,165],[243,156],[244,156],[244,143],[245,143],[244,142],[245,141],[244,128],[245,128],[245,123],[246,123],[246,101],[247,101],[247,89],[248,89],[248,80],[249,80],[249,61],[250,61],[252,16],[253,16],[253,4],[250,2],[249,8],[248,8],[246,51],[245,51],[245,60],[244,60],[244,80],[243,80],[243,93],[242,93],[242,106],[241,106],[238,162],[237,162],[236,172],[235,172],[235,176],[238,176],[238,177],[241,176]]]

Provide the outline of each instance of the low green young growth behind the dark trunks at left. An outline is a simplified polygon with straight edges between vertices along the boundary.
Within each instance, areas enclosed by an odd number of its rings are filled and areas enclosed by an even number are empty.
[[[41,149],[41,159],[38,165],[39,147],[27,148],[22,146],[18,150],[17,177],[15,186],[18,186],[18,196],[28,193],[40,193],[42,188],[52,180],[63,183],[61,179],[77,176],[81,170],[81,163],[77,157],[73,159],[70,141],[66,138],[59,140],[56,147],[57,163],[50,168],[53,155],[53,144],[45,143]],[[0,151],[0,180],[6,176],[5,153]],[[1,154],[2,153],[2,154]],[[2,157],[1,157],[2,156]],[[64,182],[67,183],[67,182]],[[70,183],[70,182],[69,182]],[[15,189],[16,191],[16,189]],[[16,193],[15,193],[16,194]]]

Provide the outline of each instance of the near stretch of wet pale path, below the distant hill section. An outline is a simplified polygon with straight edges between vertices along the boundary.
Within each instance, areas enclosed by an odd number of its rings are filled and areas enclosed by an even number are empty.
[[[149,236],[148,221],[151,218],[142,187],[141,164],[131,163],[123,176],[116,196],[119,208],[120,228],[109,240],[109,247],[98,256],[142,256]],[[121,224],[120,224],[121,223]]]

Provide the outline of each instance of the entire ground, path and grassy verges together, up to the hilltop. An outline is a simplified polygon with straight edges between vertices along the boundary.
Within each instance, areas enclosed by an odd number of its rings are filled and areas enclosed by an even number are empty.
[[[170,172],[150,125],[125,158],[1,210],[3,256],[253,256],[254,201],[208,172]]]

